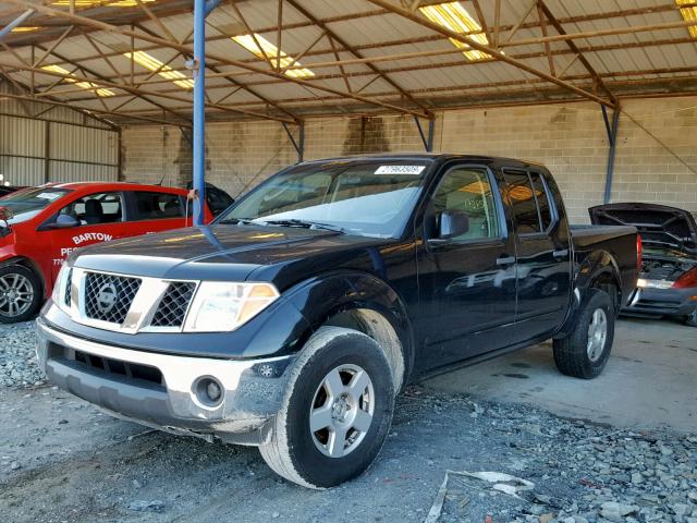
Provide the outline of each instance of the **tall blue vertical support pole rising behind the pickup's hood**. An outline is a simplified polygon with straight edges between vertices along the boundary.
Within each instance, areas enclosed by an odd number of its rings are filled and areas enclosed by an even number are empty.
[[[194,0],[194,226],[206,202],[206,0]]]

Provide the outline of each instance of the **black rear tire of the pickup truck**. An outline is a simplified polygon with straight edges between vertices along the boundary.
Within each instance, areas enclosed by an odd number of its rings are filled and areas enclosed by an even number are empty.
[[[606,336],[602,342],[589,345],[589,328],[597,311],[598,317],[604,315]],[[578,320],[573,332],[566,338],[555,339],[554,363],[557,368],[566,376],[575,378],[592,379],[602,373],[614,339],[615,311],[610,295],[599,289],[590,289],[586,296]],[[594,350],[595,348],[595,350]]]

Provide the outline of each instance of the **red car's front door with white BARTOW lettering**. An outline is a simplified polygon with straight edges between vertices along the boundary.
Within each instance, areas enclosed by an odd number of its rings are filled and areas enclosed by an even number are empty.
[[[50,250],[52,279],[75,248],[132,235],[124,222],[124,203],[121,192],[99,192],[77,197],[59,211],[57,226],[61,221],[63,226],[45,228],[41,233]]]

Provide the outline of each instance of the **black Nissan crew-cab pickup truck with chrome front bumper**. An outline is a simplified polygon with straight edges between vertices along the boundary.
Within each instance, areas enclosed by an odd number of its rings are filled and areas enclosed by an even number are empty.
[[[539,165],[290,167],[209,227],[74,253],[37,321],[48,377],[108,412],[260,448],[321,488],[362,473],[419,377],[552,338],[592,378],[637,280],[633,227],[570,227]]]

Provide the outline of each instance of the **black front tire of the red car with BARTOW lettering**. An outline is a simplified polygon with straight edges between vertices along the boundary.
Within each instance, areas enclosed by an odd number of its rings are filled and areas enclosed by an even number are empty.
[[[12,282],[21,281],[22,297],[29,302],[11,303],[9,287]],[[24,294],[28,289],[30,296]],[[23,265],[8,265],[0,267],[0,324],[15,324],[33,318],[44,302],[41,279],[32,269]]]

